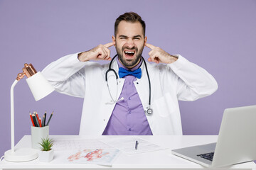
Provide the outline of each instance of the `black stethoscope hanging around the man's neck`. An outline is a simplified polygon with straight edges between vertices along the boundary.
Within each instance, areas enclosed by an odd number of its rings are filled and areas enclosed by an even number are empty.
[[[111,72],[111,71],[114,72],[116,81],[118,80],[117,72],[114,71],[114,69],[111,68],[112,62],[114,61],[114,58],[115,58],[115,57],[117,57],[117,55],[114,55],[114,57],[112,58],[112,60],[111,60],[111,62],[110,62],[110,67],[109,67],[109,69],[107,69],[107,72],[106,72],[106,74],[105,74],[105,80],[106,80],[106,82],[107,82],[107,74],[108,74],[109,72]],[[151,114],[153,113],[153,109],[151,108],[151,83],[150,83],[150,79],[149,79],[149,72],[148,72],[148,69],[147,69],[147,67],[146,67],[146,62],[145,62],[145,60],[144,60],[143,57],[142,57],[142,60],[143,60],[143,62],[144,62],[144,64],[145,64],[146,75],[147,75],[148,80],[149,80],[149,106],[146,107],[146,110],[145,110],[144,112],[147,113],[147,114],[149,114],[149,115],[151,115]],[[117,86],[118,86],[118,81],[117,81]],[[107,82],[107,89],[108,89],[108,91],[109,91],[109,93],[110,93],[110,97],[111,97],[113,103],[117,103],[118,101],[124,100],[123,97],[120,98],[119,100],[117,100],[117,96],[115,97],[116,100],[114,100],[114,98],[112,97],[112,94],[111,94],[111,92],[110,92],[110,87],[109,87],[109,85],[108,85],[108,82]],[[117,91],[118,91],[118,88],[117,88]],[[116,93],[116,94],[117,94],[117,93]]]

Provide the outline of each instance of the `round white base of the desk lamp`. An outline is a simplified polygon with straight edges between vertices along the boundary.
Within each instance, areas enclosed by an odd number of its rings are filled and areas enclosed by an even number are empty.
[[[9,162],[28,162],[38,157],[38,151],[31,148],[19,148],[14,152],[4,152],[4,159]]]

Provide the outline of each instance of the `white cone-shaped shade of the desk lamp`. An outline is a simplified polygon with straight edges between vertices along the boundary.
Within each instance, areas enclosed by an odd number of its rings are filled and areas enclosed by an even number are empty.
[[[26,81],[36,101],[39,101],[41,98],[44,98],[54,91],[53,86],[49,84],[41,72],[33,74],[33,76],[28,77]]]

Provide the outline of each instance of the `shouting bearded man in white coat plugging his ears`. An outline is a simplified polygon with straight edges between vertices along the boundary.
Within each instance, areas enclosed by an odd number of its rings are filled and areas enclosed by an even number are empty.
[[[80,135],[182,135],[178,100],[194,101],[217,90],[205,69],[146,43],[145,28],[137,13],[124,13],[114,24],[112,42],[43,70],[56,91],[84,98]],[[92,62],[112,60],[112,45],[118,58],[111,65]],[[143,61],[145,46],[154,63]]]

